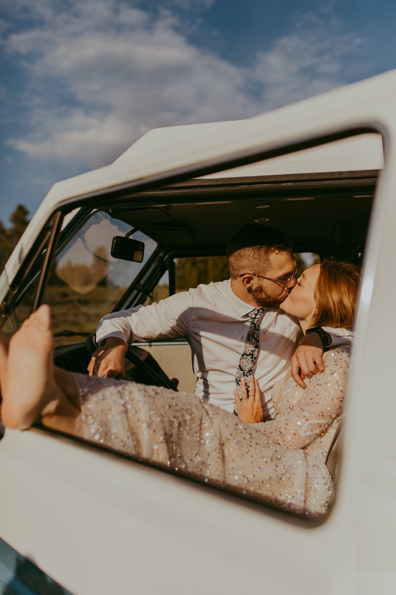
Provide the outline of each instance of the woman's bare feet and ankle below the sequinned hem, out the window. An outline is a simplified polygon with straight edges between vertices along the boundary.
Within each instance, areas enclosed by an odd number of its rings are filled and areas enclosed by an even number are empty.
[[[72,375],[56,373],[66,393],[55,381],[52,362],[53,337],[50,309],[41,306],[11,337],[8,346],[0,337],[0,383],[2,390],[1,418],[5,426],[25,430],[41,421],[48,427],[73,433],[79,414],[77,389]]]

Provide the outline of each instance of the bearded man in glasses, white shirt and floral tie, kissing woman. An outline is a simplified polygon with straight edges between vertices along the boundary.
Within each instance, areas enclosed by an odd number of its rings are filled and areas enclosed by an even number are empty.
[[[302,337],[297,321],[279,309],[296,284],[292,241],[275,228],[244,226],[227,246],[227,261],[230,280],[102,318],[96,330],[100,348],[88,366],[90,375],[123,377],[127,345],[135,340],[186,337],[197,397],[233,411],[235,383],[239,387],[243,376],[254,373],[264,417],[273,418],[275,378],[287,371]],[[303,348],[303,374],[324,369],[320,339],[308,340],[314,346]]]

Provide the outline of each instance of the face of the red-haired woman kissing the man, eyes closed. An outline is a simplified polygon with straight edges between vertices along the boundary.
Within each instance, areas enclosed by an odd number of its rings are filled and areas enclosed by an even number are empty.
[[[297,279],[296,286],[279,306],[287,314],[292,314],[299,320],[310,321],[315,314],[315,287],[318,281],[320,264],[306,268],[301,277]]]

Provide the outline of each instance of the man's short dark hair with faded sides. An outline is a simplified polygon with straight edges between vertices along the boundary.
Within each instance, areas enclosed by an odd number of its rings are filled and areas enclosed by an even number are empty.
[[[227,262],[232,279],[241,273],[265,274],[273,252],[292,252],[293,242],[284,231],[275,227],[245,225],[227,246]]]

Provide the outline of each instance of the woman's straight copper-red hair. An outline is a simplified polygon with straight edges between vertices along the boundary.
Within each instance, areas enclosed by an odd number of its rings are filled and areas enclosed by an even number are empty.
[[[321,262],[312,327],[351,328],[359,292],[359,267],[332,258]]]

